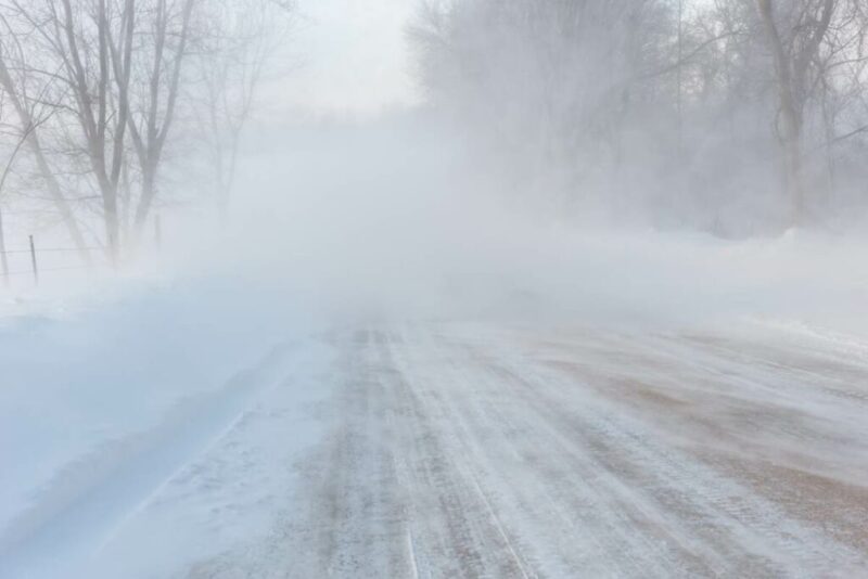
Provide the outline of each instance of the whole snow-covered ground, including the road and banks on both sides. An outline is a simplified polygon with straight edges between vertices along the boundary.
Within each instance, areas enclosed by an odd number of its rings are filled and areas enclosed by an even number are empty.
[[[0,577],[868,572],[864,242],[393,210],[5,303]]]

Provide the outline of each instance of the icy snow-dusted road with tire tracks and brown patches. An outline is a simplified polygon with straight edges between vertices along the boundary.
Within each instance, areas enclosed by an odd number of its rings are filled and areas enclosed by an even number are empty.
[[[332,332],[304,417],[268,390],[97,567],[868,577],[868,350],[793,329],[732,334]],[[299,427],[311,441],[288,453]],[[156,566],[167,544],[199,554]]]

